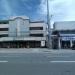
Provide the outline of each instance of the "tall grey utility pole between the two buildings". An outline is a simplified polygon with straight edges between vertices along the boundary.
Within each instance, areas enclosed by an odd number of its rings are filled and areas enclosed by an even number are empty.
[[[50,16],[50,13],[49,13],[49,0],[47,0],[47,24],[48,24],[48,48],[52,49],[52,30],[51,30],[51,23],[50,23],[50,20],[51,20],[51,16]]]

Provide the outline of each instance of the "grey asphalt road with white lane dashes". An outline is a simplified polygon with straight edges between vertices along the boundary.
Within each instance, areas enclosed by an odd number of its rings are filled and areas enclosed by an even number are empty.
[[[0,75],[75,75],[75,51],[0,51]]]

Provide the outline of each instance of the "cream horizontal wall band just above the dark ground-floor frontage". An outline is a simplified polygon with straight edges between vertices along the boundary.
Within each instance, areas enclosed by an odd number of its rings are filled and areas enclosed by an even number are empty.
[[[3,37],[0,38],[0,42],[2,41],[42,41],[42,40],[46,40],[45,37]]]

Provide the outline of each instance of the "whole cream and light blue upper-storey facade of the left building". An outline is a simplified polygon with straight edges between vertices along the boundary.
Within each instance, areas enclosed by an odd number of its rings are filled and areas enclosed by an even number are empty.
[[[17,40],[18,37],[19,39],[25,38],[25,41],[27,40],[27,38],[28,40],[46,41],[47,26],[44,22],[30,22],[29,19],[22,19],[20,17],[9,19],[8,21],[9,24],[0,25],[0,28],[8,28],[8,31],[1,31],[0,34],[8,34],[9,37],[4,37],[4,39],[0,38],[0,41],[10,41],[12,38],[13,40]],[[43,30],[29,30],[30,27],[43,27]],[[44,36],[31,37],[29,36],[29,34],[43,34]]]

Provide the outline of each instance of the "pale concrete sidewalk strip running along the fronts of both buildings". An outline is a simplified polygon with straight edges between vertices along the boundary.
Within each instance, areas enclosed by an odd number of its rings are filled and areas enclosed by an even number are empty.
[[[75,53],[71,49],[48,49],[48,48],[0,48],[0,53]]]

